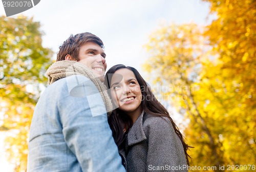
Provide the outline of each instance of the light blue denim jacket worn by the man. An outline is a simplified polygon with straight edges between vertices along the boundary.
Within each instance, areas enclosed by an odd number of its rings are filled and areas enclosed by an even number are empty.
[[[125,171],[96,89],[83,76],[46,88],[30,127],[28,172]]]

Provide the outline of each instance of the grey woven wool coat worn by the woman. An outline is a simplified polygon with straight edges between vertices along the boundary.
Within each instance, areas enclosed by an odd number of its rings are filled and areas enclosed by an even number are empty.
[[[142,112],[119,154],[127,172],[187,171],[182,143],[167,117]]]

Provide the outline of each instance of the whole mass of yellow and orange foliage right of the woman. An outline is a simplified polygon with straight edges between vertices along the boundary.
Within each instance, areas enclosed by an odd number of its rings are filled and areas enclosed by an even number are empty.
[[[189,119],[190,165],[221,171],[220,165],[256,164],[256,9],[255,1],[209,2],[218,14],[209,26],[171,24],[152,33],[144,68]]]

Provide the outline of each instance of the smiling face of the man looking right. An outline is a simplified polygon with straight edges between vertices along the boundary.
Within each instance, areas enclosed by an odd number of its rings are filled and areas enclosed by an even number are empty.
[[[78,62],[92,69],[96,77],[101,82],[104,82],[104,73],[106,70],[105,57],[104,50],[97,43],[89,41],[80,47]]]

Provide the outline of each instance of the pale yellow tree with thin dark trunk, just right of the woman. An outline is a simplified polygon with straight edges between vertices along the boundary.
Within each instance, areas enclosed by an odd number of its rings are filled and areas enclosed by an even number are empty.
[[[184,132],[188,144],[195,147],[190,153],[191,166],[219,167],[222,164],[222,151],[216,141],[219,132],[212,131],[218,121],[212,112],[205,113],[207,97],[197,93],[206,93],[200,85],[200,74],[210,48],[202,33],[196,24],[162,27],[152,34],[147,44],[151,57],[144,67],[156,76],[154,84],[167,87],[160,99],[169,101],[190,120]]]

